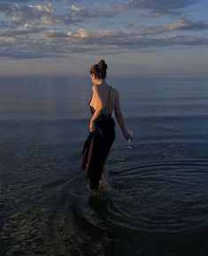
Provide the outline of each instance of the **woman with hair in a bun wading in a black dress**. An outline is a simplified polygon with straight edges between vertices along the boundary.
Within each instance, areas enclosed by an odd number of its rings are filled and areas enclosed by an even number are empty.
[[[93,95],[89,102],[92,117],[89,123],[89,137],[83,147],[83,161],[81,167],[89,178],[90,190],[104,186],[109,188],[106,159],[115,139],[115,122],[112,119],[114,110],[119,127],[126,139],[132,139],[127,132],[122,112],[119,107],[119,92],[109,86],[106,81],[107,65],[101,59],[89,69],[93,83]]]

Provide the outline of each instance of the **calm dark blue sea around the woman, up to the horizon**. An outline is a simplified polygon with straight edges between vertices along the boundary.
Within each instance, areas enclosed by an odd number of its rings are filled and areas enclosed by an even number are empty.
[[[81,171],[89,78],[0,78],[1,256],[208,255],[208,76],[109,78],[112,193]]]

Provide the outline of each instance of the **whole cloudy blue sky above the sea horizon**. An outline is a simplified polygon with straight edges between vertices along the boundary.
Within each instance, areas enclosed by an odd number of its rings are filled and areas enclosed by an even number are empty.
[[[0,75],[208,74],[207,0],[0,0]]]

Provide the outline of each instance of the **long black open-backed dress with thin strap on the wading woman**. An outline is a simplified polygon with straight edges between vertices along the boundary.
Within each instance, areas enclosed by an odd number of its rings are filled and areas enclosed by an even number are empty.
[[[107,105],[109,108],[111,87],[108,91]],[[92,115],[95,110],[90,107]],[[96,120],[96,129],[89,133],[87,140],[82,149],[82,164],[81,168],[85,170],[86,179],[89,178],[89,187],[91,190],[97,189],[102,176],[104,162],[107,159],[108,153],[115,139],[115,121],[112,119],[112,113],[103,113]]]

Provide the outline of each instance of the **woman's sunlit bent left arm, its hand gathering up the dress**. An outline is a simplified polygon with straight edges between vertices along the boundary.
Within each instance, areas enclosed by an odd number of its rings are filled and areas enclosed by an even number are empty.
[[[93,90],[93,97],[96,102],[96,110],[95,110],[95,112],[90,120],[90,124],[89,124],[89,130],[91,132],[95,130],[96,120],[104,110],[104,102],[103,102],[101,93],[99,92],[99,89],[97,89],[97,86],[94,85],[92,87],[92,90]]]

